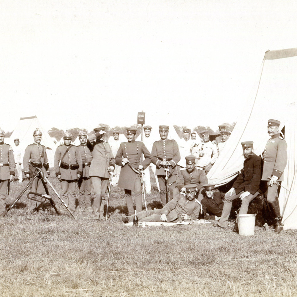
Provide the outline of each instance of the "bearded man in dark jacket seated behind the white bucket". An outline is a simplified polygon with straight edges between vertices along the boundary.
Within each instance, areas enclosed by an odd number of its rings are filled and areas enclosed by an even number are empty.
[[[261,190],[261,158],[254,154],[254,142],[244,141],[241,143],[244,163],[236,181],[232,188],[225,194],[224,208],[218,226],[227,227],[228,218],[232,207],[232,201],[236,198],[242,200],[239,214],[247,214],[249,203],[259,195]],[[238,232],[237,223],[234,226],[233,232]]]

